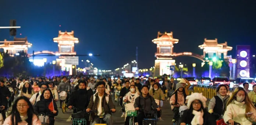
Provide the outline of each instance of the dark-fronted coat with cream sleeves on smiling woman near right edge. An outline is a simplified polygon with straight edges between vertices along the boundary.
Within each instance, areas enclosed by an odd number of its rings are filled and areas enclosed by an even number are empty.
[[[208,106],[208,110],[212,109],[214,113],[222,116],[225,113],[227,102],[230,99],[229,95],[226,95],[224,98],[220,94],[217,94],[211,98]],[[215,120],[218,119],[218,116],[215,116]]]

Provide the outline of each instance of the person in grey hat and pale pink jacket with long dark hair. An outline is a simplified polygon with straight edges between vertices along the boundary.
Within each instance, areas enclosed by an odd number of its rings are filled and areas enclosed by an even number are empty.
[[[171,110],[173,110],[173,121],[176,122],[179,119],[179,107],[184,106],[186,103],[186,92],[184,86],[181,83],[176,85],[176,90],[173,92],[170,98]]]

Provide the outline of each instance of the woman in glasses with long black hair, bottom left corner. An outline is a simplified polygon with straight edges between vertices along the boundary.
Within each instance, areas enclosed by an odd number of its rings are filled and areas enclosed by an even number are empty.
[[[41,125],[28,98],[21,96],[13,104],[10,116],[3,125]]]

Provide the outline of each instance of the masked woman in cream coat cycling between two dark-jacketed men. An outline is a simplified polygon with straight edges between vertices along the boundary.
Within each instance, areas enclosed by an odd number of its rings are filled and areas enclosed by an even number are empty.
[[[129,87],[129,92],[124,96],[123,100],[124,102],[129,101],[130,103],[125,105],[125,125],[129,125],[129,119],[130,117],[127,116],[127,111],[129,110],[135,110],[134,109],[134,102],[135,99],[139,96],[138,92],[135,91],[135,86],[131,85]],[[135,117],[134,122],[136,123],[137,118]]]

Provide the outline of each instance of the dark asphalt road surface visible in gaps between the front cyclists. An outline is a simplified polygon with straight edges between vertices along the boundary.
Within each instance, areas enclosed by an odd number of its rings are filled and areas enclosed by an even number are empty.
[[[113,98],[114,99],[114,98]],[[124,118],[121,118],[121,107],[118,106],[117,107],[117,102],[114,102],[117,112],[113,113],[113,117],[114,117],[114,125],[124,125]],[[206,105],[208,106],[209,101],[206,102]],[[57,105],[59,106],[59,103],[57,103]],[[72,110],[68,110],[68,113],[63,114],[61,109],[59,110],[59,114],[56,117],[55,120],[55,125],[71,125],[72,121],[71,121],[71,114],[72,114]],[[164,106],[162,109],[162,118],[164,121],[159,121],[157,122],[157,125],[170,125],[171,121],[173,120],[173,111],[171,111],[171,107],[169,102],[164,102]]]

